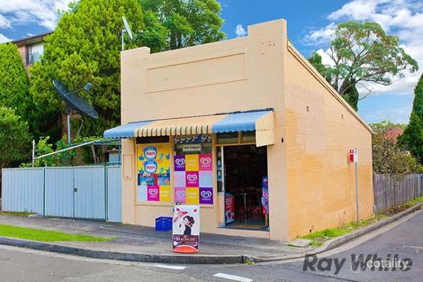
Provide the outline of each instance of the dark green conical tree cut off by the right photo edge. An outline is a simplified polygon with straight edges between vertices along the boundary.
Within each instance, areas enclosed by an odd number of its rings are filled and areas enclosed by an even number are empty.
[[[400,143],[423,164],[423,75],[414,88],[410,122],[400,138]]]

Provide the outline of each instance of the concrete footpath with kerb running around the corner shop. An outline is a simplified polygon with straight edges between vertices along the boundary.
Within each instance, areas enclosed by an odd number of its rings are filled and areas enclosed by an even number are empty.
[[[100,237],[115,237],[115,239],[107,242],[40,242],[0,237],[0,244],[96,259],[119,259],[158,263],[232,264],[244,263],[247,260],[256,262],[275,261],[302,258],[306,254],[320,253],[336,248],[367,232],[392,223],[398,218],[416,211],[420,207],[421,205],[410,207],[401,214],[396,214],[387,220],[329,240],[318,248],[311,246],[298,248],[287,246],[286,242],[281,241],[202,233],[199,253],[175,254],[172,252],[172,233],[156,232],[154,228],[121,223],[9,215],[0,215],[0,224],[67,233],[83,233]]]

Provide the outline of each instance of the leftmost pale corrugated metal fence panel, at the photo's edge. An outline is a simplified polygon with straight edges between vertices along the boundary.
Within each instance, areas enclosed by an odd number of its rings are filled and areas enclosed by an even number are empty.
[[[43,212],[43,168],[2,170],[2,209],[9,212]]]

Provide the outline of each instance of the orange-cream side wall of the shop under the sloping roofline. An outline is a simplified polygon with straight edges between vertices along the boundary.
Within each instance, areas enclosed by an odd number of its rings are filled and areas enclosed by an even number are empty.
[[[354,110],[289,45],[285,57],[285,142],[289,239],[356,219],[358,149],[360,218],[373,214],[372,136]]]

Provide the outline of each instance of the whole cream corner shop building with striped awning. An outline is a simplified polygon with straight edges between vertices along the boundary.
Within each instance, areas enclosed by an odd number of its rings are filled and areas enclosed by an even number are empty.
[[[286,22],[229,41],[121,52],[122,221],[175,203],[201,231],[293,240],[373,215],[371,129],[295,50]]]

